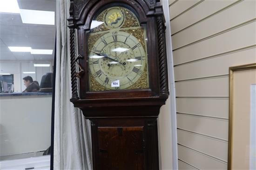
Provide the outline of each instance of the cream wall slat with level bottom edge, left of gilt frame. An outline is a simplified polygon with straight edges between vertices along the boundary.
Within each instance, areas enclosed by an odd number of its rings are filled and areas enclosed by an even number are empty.
[[[176,82],[177,97],[226,97],[229,96],[229,77]]]

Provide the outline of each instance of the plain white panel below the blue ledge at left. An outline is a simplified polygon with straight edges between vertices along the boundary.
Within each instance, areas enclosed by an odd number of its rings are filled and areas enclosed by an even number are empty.
[[[52,95],[0,97],[0,156],[45,151],[51,145]]]

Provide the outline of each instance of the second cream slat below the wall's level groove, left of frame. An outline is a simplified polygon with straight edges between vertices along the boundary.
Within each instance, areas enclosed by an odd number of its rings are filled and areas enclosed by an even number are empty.
[[[212,128],[214,127],[214,128]],[[177,114],[177,128],[228,140],[228,120]]]

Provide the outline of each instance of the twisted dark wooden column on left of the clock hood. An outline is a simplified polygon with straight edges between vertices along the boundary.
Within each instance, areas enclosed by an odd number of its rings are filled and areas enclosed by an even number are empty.
[[[76,73],[76,64],[75,64],[75,30],[70,28],[70,62],[71,62],[71,88],[72,88],[72,99],[79,99],[77,93],[77,78]]]

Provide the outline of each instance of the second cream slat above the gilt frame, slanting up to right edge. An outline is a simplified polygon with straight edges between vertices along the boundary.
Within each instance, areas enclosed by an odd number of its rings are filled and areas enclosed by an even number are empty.
[[[175,50],[173,52],[174,64],[181,64],[254,45],[256,43],[255,30],[256,24],[252,22],[216,37]],[[246,32],[252,33],[247,34]]]

